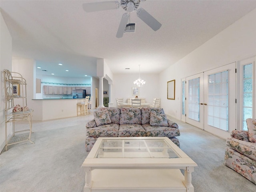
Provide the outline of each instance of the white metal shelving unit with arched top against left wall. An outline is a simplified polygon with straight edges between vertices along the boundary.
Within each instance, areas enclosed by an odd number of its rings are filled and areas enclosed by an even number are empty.
[[[24,141],[30,141],[32,133],[32,109],[21,112],[13,112],[14,100],[18,100],[22,109],[27,106],[27,92],[26,92],[26,80],[21,74],[17,72],[10,72],[4,70],[4,90],[5,90],[5,150],[8,150],[8,146]],[[16,121],[28,121],[29,128],[22,130],[15,130]],[[13,132],[12,136],[8,138],[7,127],[8,123],[12,123]]]

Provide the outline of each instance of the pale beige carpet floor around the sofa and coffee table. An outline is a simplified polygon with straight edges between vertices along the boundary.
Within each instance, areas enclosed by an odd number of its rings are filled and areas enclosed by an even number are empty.
[[[33,122],[34,144],[15,144],[0,154],[0,192],[82,192],[85,125],[92,118]],[[195,192],[256,191],[256,185],[224,166],[225,140],[174,121],[180,127],[181,149],[198,164],[192,173]]]

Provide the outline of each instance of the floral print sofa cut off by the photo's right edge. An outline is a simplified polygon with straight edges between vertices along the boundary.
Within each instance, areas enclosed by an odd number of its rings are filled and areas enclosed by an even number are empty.
[[[232,131],[227,138],[225,165],[256,185],[256,120],[246,120],[248,131]]]

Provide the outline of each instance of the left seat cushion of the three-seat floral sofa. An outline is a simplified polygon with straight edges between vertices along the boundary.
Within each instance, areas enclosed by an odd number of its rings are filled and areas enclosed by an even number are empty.
[[[87,128],[87,136],[90,137],[117,137],[118,136],[118,124],[105,124],[98,127]]]

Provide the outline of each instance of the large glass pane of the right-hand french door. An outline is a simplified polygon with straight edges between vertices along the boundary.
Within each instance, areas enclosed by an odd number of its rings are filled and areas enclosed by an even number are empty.
[[[228,71],[208,75],[208,125],[228,130]]]

